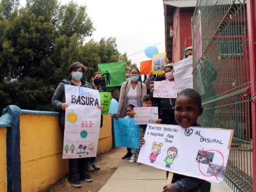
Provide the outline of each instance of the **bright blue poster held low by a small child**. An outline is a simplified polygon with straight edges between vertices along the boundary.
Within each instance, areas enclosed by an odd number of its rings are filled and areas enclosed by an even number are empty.
[[[116,147],[140,148],[140,125],[134,118],[114,118]]]

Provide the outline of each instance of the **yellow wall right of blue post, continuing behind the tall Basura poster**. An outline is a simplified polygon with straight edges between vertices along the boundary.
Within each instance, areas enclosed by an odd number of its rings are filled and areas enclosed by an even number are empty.
[[[64,127],[59,126],[59,118],[20,115],[22,191],[43,191],[68,173],[68,159],[62,159]],[[112,148],[111,125],[111,116],[104,115],[97,154]]]

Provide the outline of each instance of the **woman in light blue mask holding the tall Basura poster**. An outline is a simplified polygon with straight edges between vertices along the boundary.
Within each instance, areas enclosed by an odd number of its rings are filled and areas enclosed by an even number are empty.
[[[83,72],[86,67],[82,63],[76,62],[70,65],[68,68],[68,73],[70,77],[68,79],[63,79],[58,88],[56,89],[52,97],[52,106],[60,111],[60,125],[65,126],[65,109],[68,108],[68,104],[65,102],[65,84],[72,86],[83,86],[85,88],[92,88],[90,83],[87,83],[83,79]],[[98,109],[102,111],[103,106],[97,106]],[[100,127],[102,127],[102,118],[100,122]],[[81,188],[81,182],[78,179],[78,173],[81,180],[85,182],[92,182],[92,177],[86,172],[86,158],[80,159],[68,159],[69,167],[69,178],[68,182],[75,188]]]

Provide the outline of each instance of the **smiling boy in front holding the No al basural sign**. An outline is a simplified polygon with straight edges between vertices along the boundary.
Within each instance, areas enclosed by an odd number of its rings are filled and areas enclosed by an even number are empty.
[[[179,93],[175,106],[175,120],[182,128],[186,129],[191,126],[202,127],[202,125],[196,122],[198,116],[203,113],[201,102],[200,94],[193,89],[188,88]],[[142,138],[140,147],[144,143],[145,139]],[[210,192],[211,184],[206,180],[174,173],[172,184],[165,185],[163,189],[163,192],[197,192],[199,190],[201,192]]]

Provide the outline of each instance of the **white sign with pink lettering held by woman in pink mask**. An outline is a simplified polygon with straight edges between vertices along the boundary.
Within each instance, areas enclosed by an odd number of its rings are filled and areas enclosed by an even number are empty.
[[[177,98],[177,87],[175,81],[155,81],[153,97]]]

